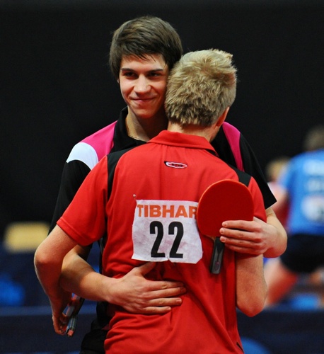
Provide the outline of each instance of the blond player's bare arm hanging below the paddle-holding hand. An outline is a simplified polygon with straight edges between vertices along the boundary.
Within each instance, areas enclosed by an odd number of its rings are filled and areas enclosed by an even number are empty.
[[[267,296],[263,257],[236,253],[236,304],[247,316],[262,311]]]

